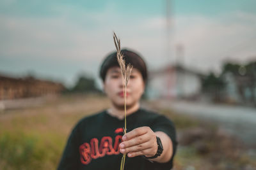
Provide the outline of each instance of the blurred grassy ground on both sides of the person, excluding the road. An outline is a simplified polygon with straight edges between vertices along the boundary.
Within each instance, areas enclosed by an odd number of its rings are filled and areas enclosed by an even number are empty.
[[[36,108],[0,112],[0,169],[56,169],[76,122],[108,106],[108,99],[102,96],[62,96],[48,99]],[[220,136],[214,125],[164,108],[155,109],[172,118],[179,132],[175,169],[256,167],[241,143]],[[191,136],[193,129],[198,128],[205,129],[199,133],[200,138]]]

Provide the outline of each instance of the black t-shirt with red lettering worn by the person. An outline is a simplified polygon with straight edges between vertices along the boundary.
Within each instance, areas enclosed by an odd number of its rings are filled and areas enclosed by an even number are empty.
[[[137,127],[148,126],[152,131],[166,133],[173,143],[173,156],[177,141],[173,123],[163,115],[139,109],[127,116],[127,132]],[[122,153],[124,120],[112,117],[106,110],[81,119],[68,138],[58,170],[66,169],[111,169],[119,170]],[[172,169],[173,156],[169,162],[150,162],[141,156],[125,159],[125,170]]]

